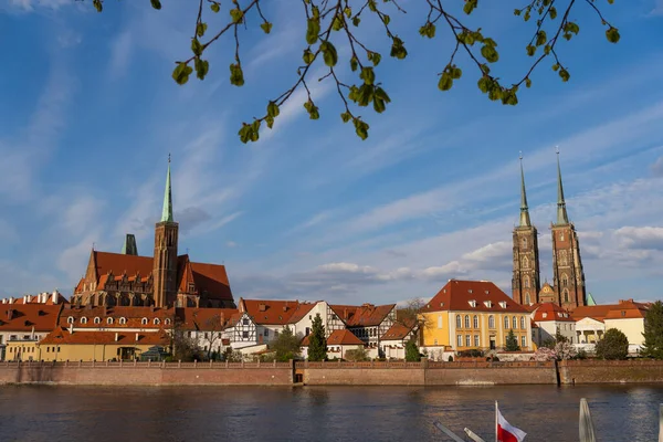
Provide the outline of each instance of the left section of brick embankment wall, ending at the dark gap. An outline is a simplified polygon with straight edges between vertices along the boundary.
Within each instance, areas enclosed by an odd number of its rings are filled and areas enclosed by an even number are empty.
[[[293,366],[285,364],[124,364],[9,362],[0,364],[2,383],[81,386],[290,386]]]

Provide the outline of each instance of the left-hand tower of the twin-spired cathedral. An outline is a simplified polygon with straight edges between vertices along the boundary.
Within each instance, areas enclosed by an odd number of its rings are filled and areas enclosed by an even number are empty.
[[[520,156],[520,222],[514,229],[514,275],[512,296],[522,305],[538,303],[540,290],[538,233],[529,219],[527,194],[525,192],[525,172]]]

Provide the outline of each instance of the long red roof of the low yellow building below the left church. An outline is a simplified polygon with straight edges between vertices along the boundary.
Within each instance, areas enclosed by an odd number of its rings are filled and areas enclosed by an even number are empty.
[[[94,345],[161,345],[170,344],[164,330],[150,333],[123,332],[74,332],[57,327],[48,334],[40,345],[94,344]]]

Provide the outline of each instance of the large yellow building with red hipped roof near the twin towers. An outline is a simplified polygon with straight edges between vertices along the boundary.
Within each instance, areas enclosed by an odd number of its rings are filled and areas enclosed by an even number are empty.
[[[430,350],[503,349],[509,330],[520,349],[533,348],[529,313],[492,282],[450,280],[421,315]]]

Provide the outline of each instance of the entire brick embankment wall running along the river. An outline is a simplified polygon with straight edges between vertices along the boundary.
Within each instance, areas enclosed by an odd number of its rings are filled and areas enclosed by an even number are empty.
[[[0,385],[507,386],[663,383],[663,361],[0,362]]]

